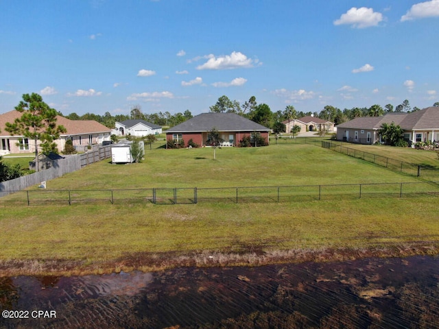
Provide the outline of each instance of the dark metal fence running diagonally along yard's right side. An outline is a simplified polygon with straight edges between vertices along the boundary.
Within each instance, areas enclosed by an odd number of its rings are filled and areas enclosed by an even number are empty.
[[[439,171],[436,168],[422,166],[420,164],[414,164],[410,162],[404,162],[401,160],[395,160],[385,156],[379,156],[377,154],[360,151],[351,147],[345,147],[342,143],[334,143],[332,141],[322,141],[322,147],[332,149],[333,151],[346,154],[347,156],[353,156],[368,162],[378,164],[381,167],[388,168],[392,171],[398,171],[407,175],[423,178],[424,180],[437,180],[439,178]]]

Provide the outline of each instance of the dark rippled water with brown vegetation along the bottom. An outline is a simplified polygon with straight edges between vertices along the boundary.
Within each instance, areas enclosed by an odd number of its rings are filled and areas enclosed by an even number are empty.
[[[439,328],[438,284],[427,256],[19,276],[0,278],[0,308],[28,318],[0,328]]]

